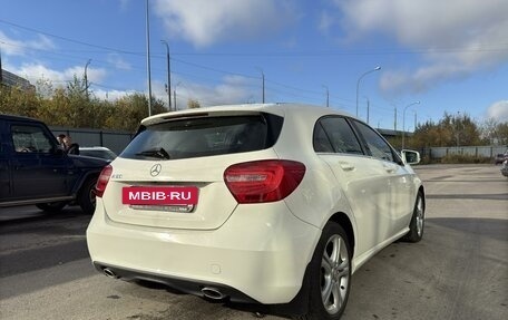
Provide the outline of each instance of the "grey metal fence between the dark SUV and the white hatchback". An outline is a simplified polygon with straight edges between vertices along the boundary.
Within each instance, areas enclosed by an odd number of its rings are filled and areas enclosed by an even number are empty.
[[[59,134],[70,136],[72,142],[79,144],[80,147],[101,146],[111,149],[116,154],[120,154],[134,137],[134,133],[127,132],[62,127],[50,127],[50,129],[55,136]]]

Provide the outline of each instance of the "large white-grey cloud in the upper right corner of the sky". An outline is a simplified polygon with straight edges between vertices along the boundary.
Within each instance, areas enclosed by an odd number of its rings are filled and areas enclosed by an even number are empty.
[[[506,0],[333,0],[333,3],[343,14],[340,26],[348,41],[383,35],[404,48],[421,51],[424,62],[417,70],[383,71],[384,91],[427,90],[448,79],[495,68],[508,59]],[[338,23],[324,26],[333,28]]]

